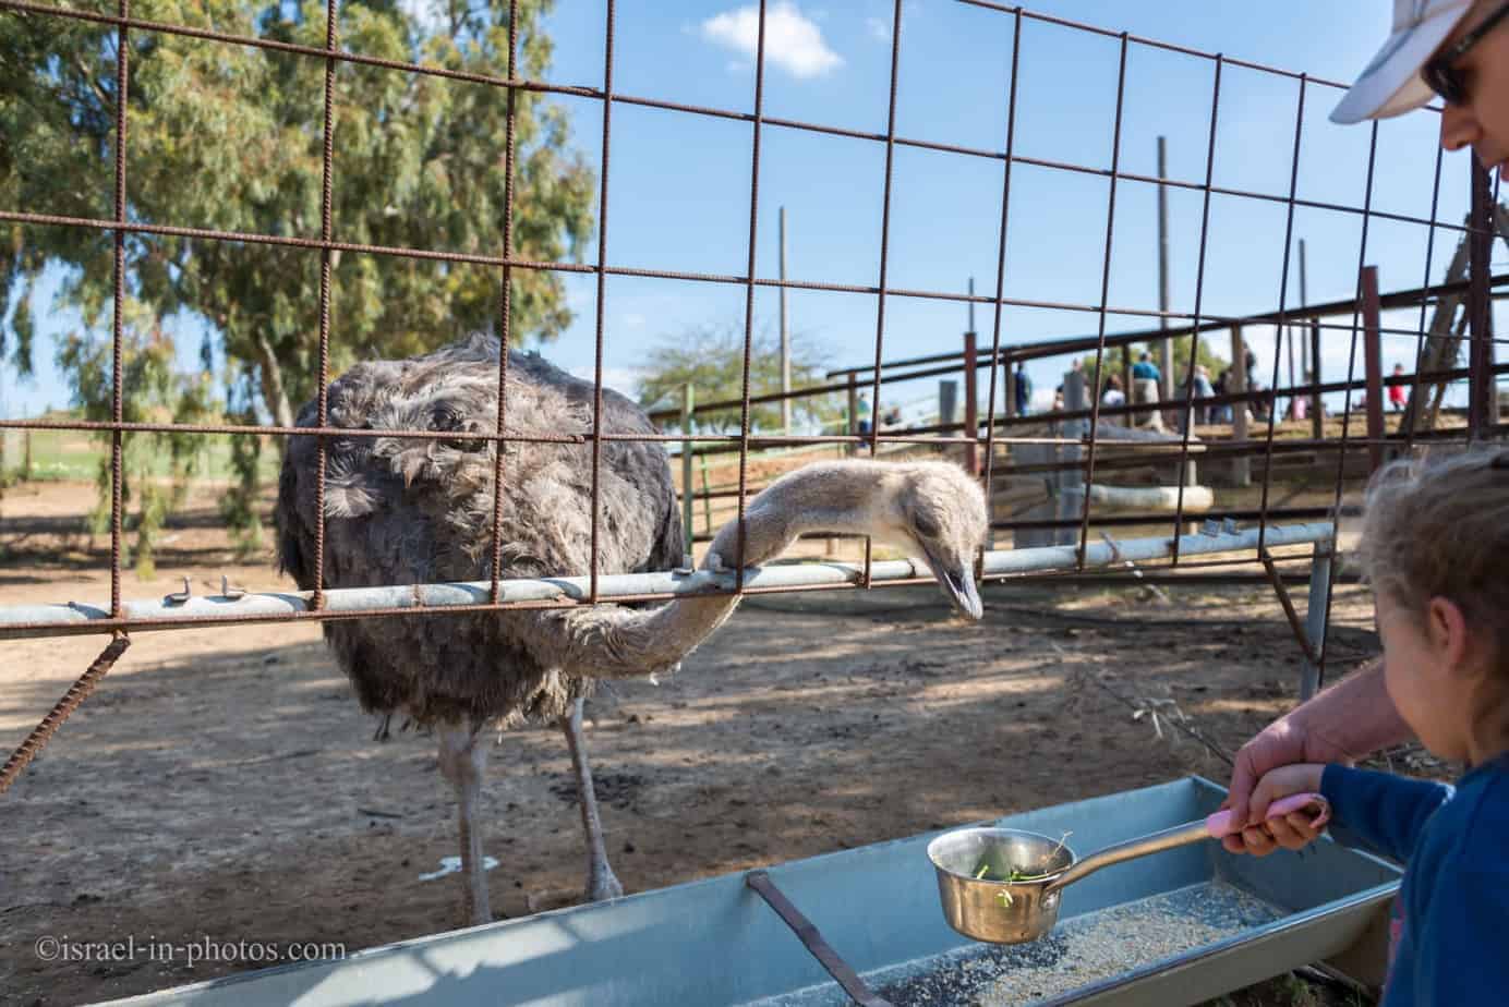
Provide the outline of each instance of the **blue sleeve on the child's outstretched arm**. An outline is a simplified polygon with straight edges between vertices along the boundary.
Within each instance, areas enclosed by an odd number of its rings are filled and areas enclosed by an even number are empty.
[[[1337,825],[1403,864],[1414,853],[1426,820],[1450,799],[1453,788],[1428,779],[1326,766],[1320,793],[1331,802]]]

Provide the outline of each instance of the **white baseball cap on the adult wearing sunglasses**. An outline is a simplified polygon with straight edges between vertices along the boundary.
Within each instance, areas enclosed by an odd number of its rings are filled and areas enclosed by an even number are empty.
[[[1471,6],[1473,0],[1394,0],[1393,33],[1331,112],[1331,122],[1387,119],[1429,103],[1435,92],[1420,68]]]

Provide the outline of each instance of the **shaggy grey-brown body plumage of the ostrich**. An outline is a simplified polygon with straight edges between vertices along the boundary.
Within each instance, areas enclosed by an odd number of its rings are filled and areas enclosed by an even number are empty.
[[[410,360],[359,363],[329,389],[332,427],[444,430],[454,439],[332,437],[327,448],[324,586],[480,580],[492,576],[498,341],[474,336]],[[658,433],[623,395],[604,389],[605,433]],[[592,431],[593,386],[537,354],[509,354],[506,433]],[[317,422],[317,404],[299,413]],[[682,526],[656,442],[602,446],[599,573],[682,562]],[[282,567],[314,588],[317,440],[293,437],[278,500]],[[592,446],[513,442],[502,460],[501,577],[589,571]],[[324,623],[367,710],[435,721],[560,719],[590,678],[561,674],[521,639],[539,623],[457,615]],[[653,668],[643,669],[644,672]]]

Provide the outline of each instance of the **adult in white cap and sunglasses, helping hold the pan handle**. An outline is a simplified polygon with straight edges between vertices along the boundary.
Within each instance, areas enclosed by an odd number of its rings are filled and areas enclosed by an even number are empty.
[[[1509,0],[1394,0],[1393,33],[1331,119],[1397,116],[1432,98],[1444,103],[1441,146],[1471,146],[1483,167],[1503,170],[1509,163]],[[1349,761],[1409,737],[1384,687],[1381,662],[1299,706],[1237,752],[1227,803],[1252,826],[1228,837],[1227,849],[1262,856],[1316,838],[1298,816],[1265,822],[1268,800],[1252,794],[1263,773],[1292,763]],[[1509,990],[1504,996],[1509,1001]]]

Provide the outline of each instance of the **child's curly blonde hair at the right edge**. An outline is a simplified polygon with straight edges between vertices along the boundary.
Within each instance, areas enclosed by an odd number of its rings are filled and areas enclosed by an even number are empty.
[[[1456,603],[1509,663],[1509,448],[1402,458],[1373,475],[1357,556],[1375,591],[1423,615]]]

